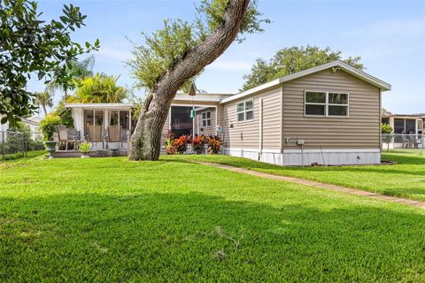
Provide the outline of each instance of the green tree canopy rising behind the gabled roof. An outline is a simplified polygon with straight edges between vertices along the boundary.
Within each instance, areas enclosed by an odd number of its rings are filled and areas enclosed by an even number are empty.
[[[356,69],[363,70],[364,65],[360,63],[360,59],[361,57],[348,57],[343,61]],[[245,80],[243,90],[335,60],[342,60],[341,51],[333,51],[329,47],[321,49],[307,45],[284,48],[277,51],[269,61],[257,59],[251,67],[251,73],[243,75]]]

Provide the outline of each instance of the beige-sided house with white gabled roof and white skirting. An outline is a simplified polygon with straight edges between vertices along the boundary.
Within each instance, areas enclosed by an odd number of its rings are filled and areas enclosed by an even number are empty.
[[[379,164],[390,88],[338,60],[236,95],[178,94],[163,135],[218,135],[225,154],[271,164]]]

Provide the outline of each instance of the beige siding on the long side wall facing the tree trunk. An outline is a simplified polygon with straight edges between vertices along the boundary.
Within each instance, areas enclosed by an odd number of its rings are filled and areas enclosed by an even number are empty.
[[[223,105],[225,148],[259,149],[259,98],[263,98],[263,149],[281,148],[281,88],[266,89]],[[253,99],[253,119],[237,121],[236,104]],[[230,127],[233,125],[233,127]]]

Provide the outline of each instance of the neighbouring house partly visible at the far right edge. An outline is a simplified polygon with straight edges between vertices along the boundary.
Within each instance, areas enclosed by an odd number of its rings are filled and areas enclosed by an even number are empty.
[[[391,114],[384,113],[383,124],[388,124],[393,129],[394,138],[391,140],[390,149],[398,149],[403,146],[402,134],[413,134],[415,139],[420,140],[425,126],[425,113],[417,114]]]

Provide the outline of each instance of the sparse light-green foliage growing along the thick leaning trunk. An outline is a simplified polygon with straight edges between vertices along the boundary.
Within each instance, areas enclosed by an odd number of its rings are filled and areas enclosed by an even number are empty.
[[[225,21],[227,4],[228,0],[202,0],[197,7],[197,18],[194,22],[165,19],[162,29],[151,35],[142,33],[144,43],[134,44],[133,58],[128,61],[137,80],[136,87],[153,89],[166,72],[173,70],[189,50],[205,42],[205,39]],[[242,42],[245,34],[262,32],[261,23],[268,23],[270,20],[261,17],[257,0],[251,1],[236,39]]]

